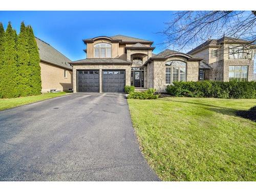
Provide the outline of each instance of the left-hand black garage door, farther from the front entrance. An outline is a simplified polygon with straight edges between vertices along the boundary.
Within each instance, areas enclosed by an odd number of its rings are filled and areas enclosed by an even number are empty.
[[[99,92],[99,71],[79,70],[77,87],[78,92]]]

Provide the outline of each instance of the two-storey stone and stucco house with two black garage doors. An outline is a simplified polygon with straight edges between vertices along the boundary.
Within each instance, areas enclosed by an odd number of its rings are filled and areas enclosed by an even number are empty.
[[[84,39],[87,58],[70,62],[76,92],[123,92],[124,86],[164,90],[174,81],[197,81],[203,58],[172,50],[157,55],[153,41],[124,35]]]

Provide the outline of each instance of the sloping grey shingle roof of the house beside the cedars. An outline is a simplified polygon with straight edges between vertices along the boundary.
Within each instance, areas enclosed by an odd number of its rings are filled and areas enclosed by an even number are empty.
[[[73,67],[69,64],[71,60],[54,49],[50,44],[47,42],[35,37],[36,44],[39,51],[40,60],[50,63],[52,65],[72,70]]]

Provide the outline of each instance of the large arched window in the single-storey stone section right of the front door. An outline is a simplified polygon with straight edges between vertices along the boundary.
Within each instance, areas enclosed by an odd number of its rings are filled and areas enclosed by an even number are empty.
[[[172,84],[174,81],[186,81],[186,63],[172,60],[165,63],[165,83]]]

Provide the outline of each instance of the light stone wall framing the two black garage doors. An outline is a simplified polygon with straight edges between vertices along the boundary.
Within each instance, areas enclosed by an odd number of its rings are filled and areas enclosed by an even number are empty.
[[[74,93],[77,93],[76,84],[76,73],[77,70],[99,70],[99,92],[102,93],[102,70],[125,70],[125,86],[131,85],[131,65],[125,64],[109,64],[109,65],[97,65],[97,64],[86,64],[86,65],[74,65],[73,66],[73,87]]]

